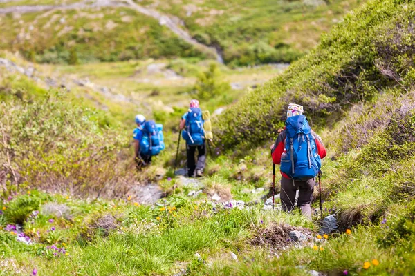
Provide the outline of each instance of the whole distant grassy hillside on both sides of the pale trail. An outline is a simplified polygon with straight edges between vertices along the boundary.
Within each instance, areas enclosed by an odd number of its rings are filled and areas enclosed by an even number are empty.
[[[313,48],[320,34],[330,30],[360,0],[137,3],[174,18],[197,41],[220,48],[226,63],[244,66],[294,61]],[[0,8],[33,4],[7,2],[0,3]],[[2,14],[0,32],[0,49],[22,52],[41,63],[205,58],[156,19],[127,7]]]

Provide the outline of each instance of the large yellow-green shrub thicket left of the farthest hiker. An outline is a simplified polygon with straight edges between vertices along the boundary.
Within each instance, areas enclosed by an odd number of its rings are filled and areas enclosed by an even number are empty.
[[[0,110],[0,160],[8,164],[1,168],[7,179],[3,193],[30,186],[111,196],[134,183],[133,164],[122,154],[128,152],[129,135],[100,127],[94,110],[59,92],[33,103],[6,101]]]

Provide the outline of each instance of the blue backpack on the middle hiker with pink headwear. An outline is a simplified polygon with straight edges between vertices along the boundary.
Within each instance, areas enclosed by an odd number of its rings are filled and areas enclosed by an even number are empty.
[[[205,130],[203,130],[202,110],[190,108],[186,116],[186,128],[182,137],[189,146],[201,146],[205,142]]]

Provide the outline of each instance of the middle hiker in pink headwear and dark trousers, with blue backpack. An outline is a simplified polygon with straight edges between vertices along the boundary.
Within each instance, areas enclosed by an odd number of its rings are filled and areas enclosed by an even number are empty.
[[[205,168],[206,146],[203,122],[199,101],[192,99],[189,110],[187,110],[180,121],[180,129],[183,130],[181,134],[186,141],[187,175],[189,177],[201,177]],[[198,152],[197,163],[194,159],[196,150]]]

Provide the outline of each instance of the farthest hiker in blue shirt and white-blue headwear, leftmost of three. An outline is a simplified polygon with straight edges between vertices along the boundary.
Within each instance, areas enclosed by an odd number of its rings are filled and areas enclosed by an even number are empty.
[[[165,149],[163,125],[155,121],[146,121],[141,114],[136,115],[137,128],[133,131],[134,160],[137,168],[151,163],[151,157]]]

